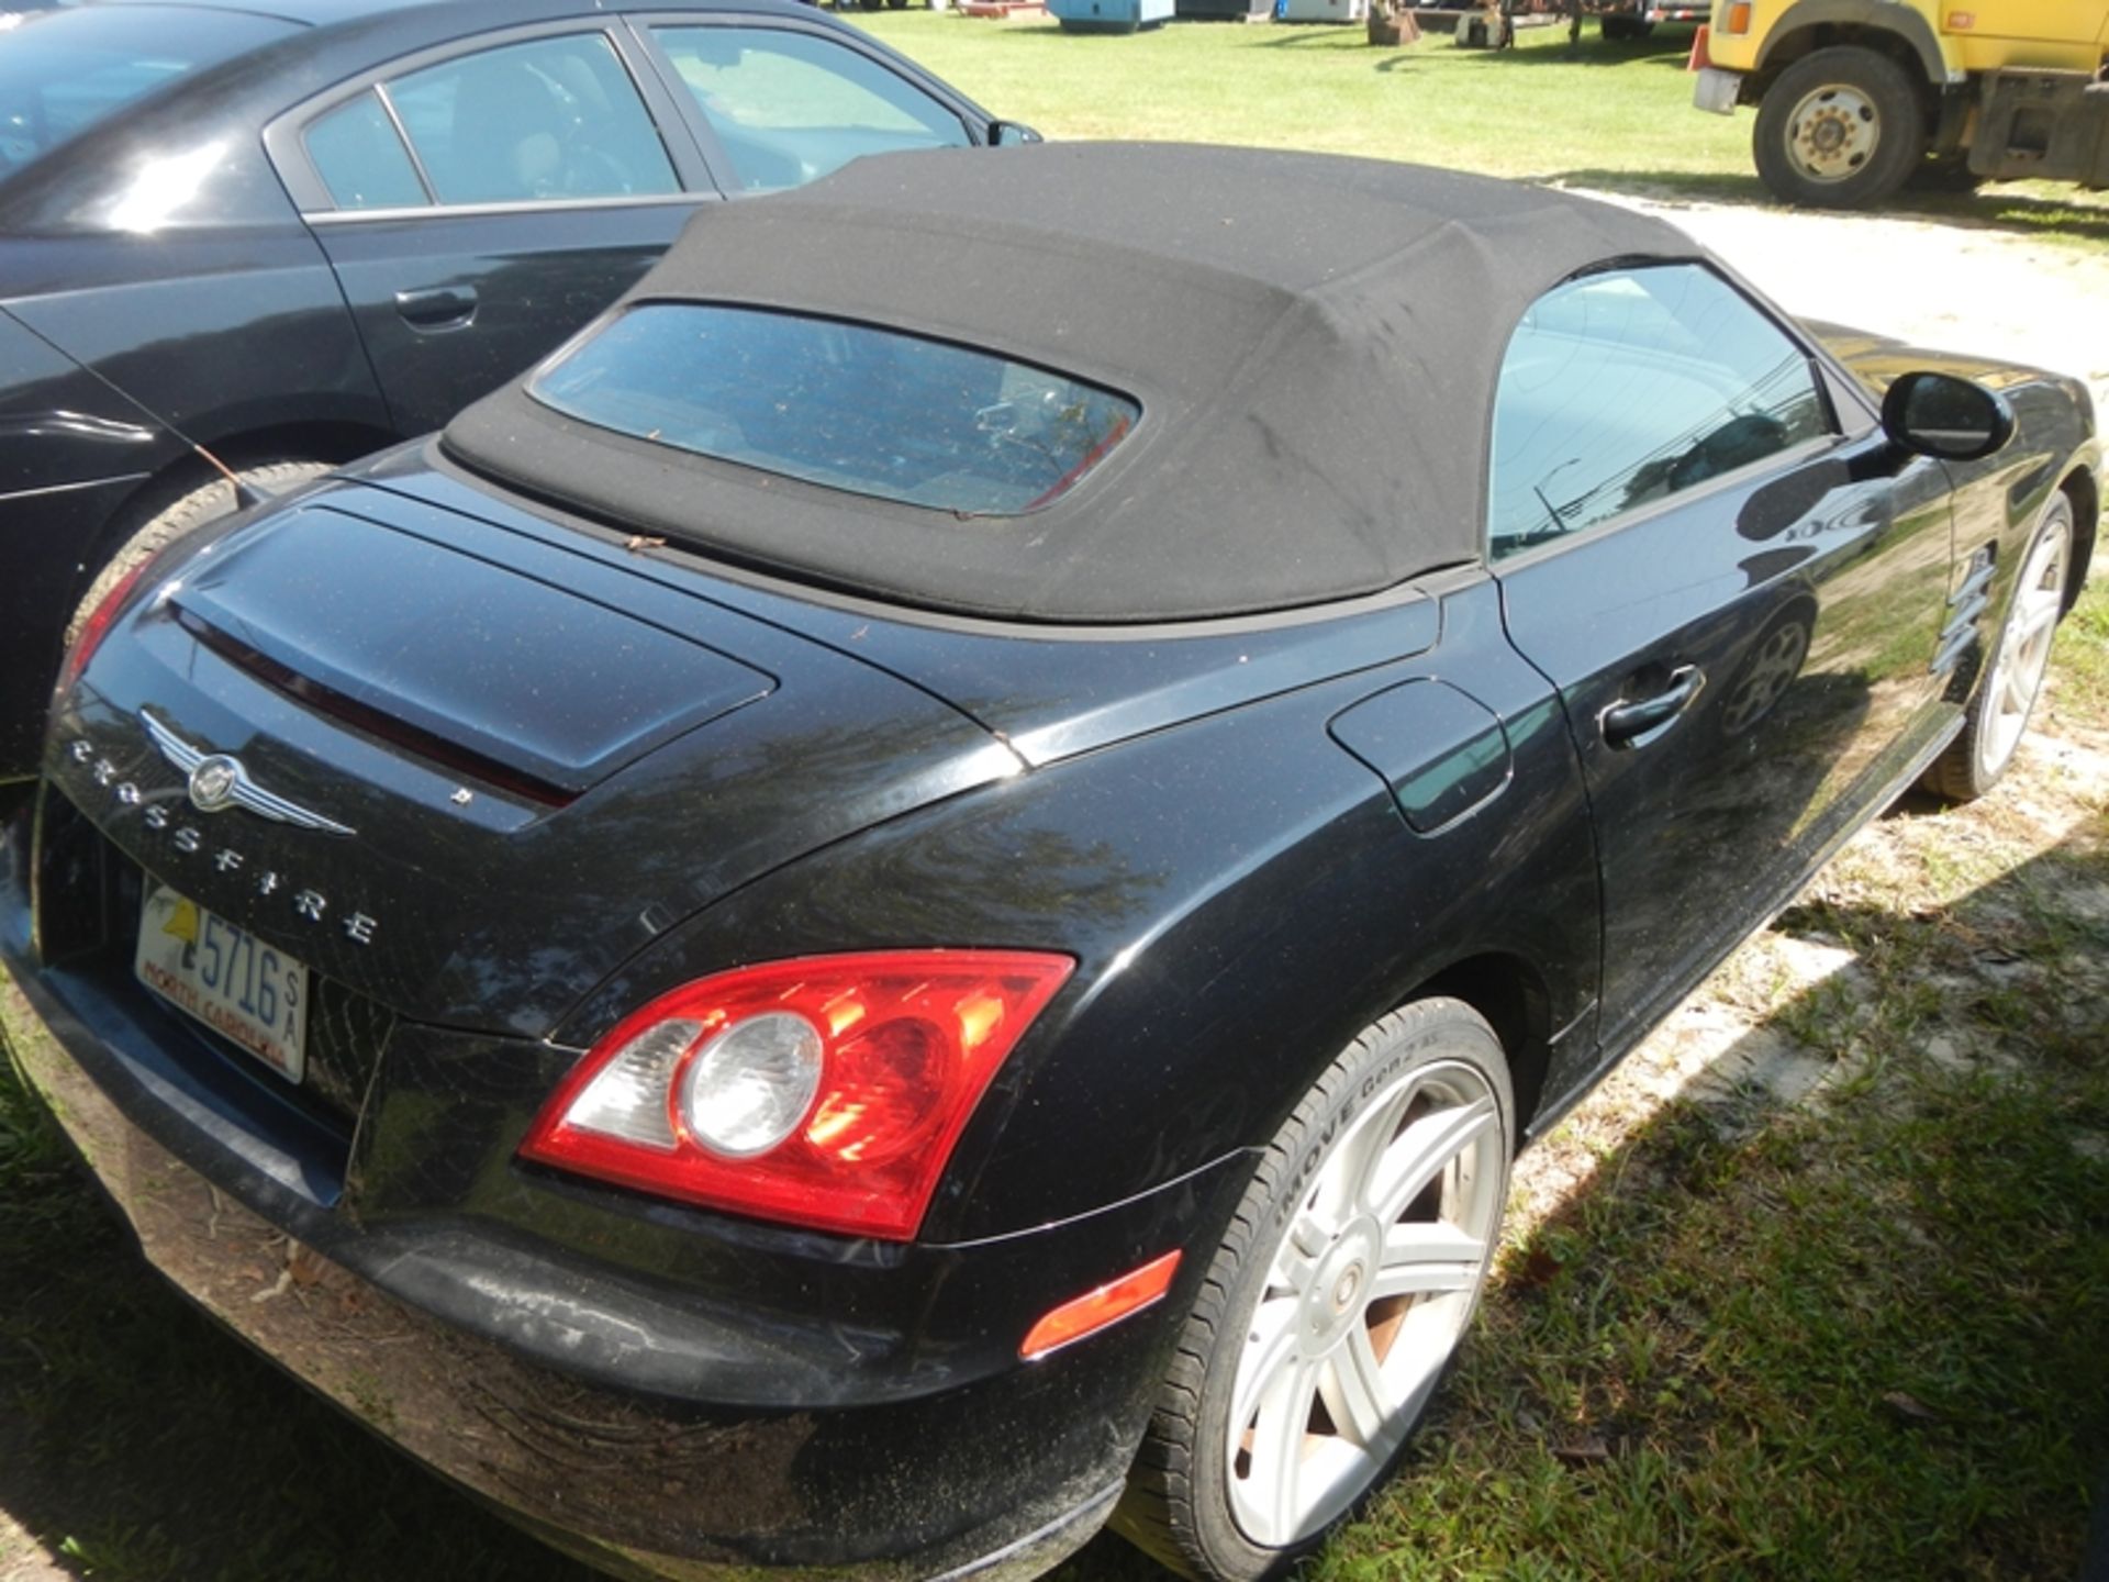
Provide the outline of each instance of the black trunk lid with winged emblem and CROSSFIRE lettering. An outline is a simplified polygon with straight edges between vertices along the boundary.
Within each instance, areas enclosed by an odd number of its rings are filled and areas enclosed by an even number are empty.
[[[329,487],[118,624],[46,772],[327,979],[525,1036],[740,884],[1017,772],[924,690],[641,570]],[[264,812],[200,810],[190,770],[219,757]]]

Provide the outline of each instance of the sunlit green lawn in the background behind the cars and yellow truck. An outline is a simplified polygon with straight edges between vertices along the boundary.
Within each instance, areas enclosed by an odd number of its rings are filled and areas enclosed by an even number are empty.
[[[1769,202],[1750,169],[1750,112],[1691,108],[1689,34],[1609,44],[1565,27],[1514,51],[1430,34],[1371,49],[1360,27],[1181,25],[1128,36],[953,13],[850,13],[991,114],[1048,137],[1314,148],[1620,192]],[[2109,202],[2031,181],[1974,196],[1907,194],[1890,213],[2109,247]]]

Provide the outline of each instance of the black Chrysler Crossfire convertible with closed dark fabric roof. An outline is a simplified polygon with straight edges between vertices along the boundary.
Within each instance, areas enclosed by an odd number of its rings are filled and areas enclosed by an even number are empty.
[[[1257,1578],[1516,1147],[2008,766],[2098,462],[1565,194],[863,160],[112,589],[6,1036],[177,1285],[610,1569]]]

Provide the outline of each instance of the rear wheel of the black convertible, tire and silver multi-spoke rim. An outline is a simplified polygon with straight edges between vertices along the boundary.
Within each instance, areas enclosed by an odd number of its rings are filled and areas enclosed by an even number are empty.
[[[1356,1038],[1261,1156],[1114,1527],[1185,1576],[1251,1582],[1381,1483],[1478,1304],[1512,1139],[1502,1044],[1464,1002]]]

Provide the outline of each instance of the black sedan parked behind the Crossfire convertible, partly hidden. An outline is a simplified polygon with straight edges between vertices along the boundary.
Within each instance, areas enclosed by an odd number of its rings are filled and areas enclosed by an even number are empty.
[[[1029,137],[789,0],[0,23],[0,780],[36,772],[97,578],[228,510],[228,470],[268,491],[439,428],[698,205]]]

